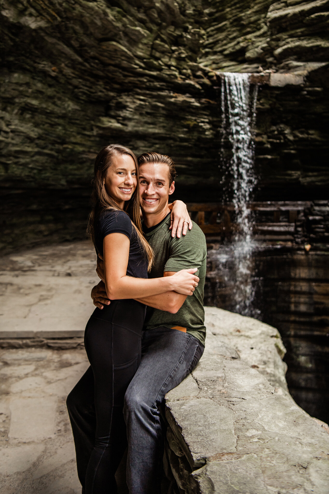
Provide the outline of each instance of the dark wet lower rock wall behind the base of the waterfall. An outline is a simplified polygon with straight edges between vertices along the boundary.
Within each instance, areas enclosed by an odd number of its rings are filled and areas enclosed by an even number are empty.
[[[250,283],[255,296],[251,314],[280,331],[293,399],[312,416],[328,422],[329,203],[272,202],[252,207],[259,210],[253,211],[252,221]],[[289,212],[289,207],[295,210]],[[234,265],[227,263],[227,255],[218,237],[208,240],[204,302],[235,311],[235,280],[230,271],[234,272]]]

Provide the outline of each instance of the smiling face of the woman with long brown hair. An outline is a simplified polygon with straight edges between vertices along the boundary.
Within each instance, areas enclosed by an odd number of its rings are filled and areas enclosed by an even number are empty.
[[[131,199],[137,187],[137,170],[129,155],[115,155],[104,179],[106,192],[118,206]]]

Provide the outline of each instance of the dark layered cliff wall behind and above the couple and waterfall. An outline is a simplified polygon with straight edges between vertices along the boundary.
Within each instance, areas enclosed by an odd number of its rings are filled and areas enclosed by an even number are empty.
[[[108,142],[170,154],[176,196],[218,201],[214,71],[305,75],[305,87],[260,91],[257,194],[325,198],[326,0],[0,5],[2,247],[82,238],[92,163]]]

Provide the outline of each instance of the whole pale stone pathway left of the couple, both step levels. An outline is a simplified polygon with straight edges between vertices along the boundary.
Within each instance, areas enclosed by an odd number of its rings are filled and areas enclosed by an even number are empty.
[[[47,342],[0,350],[1,494],[81,493],[65,400],[89,364],[83,347],[47,346],[80,342],[95,259],[89,242],[76,242],[0,260],[1,346]]]

